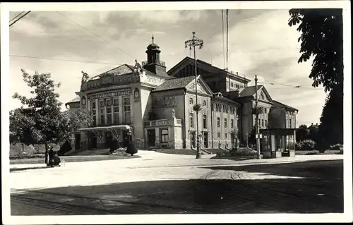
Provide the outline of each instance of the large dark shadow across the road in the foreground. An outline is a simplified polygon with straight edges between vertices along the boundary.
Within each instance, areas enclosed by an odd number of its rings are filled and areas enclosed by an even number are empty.
[[[45,199],[47,203],[42,207],[47,209],[53,207],[57,214],[343,212],[342,160],[271,166],[219,166],[209,169],[227,169],[234,173],[236,171],[261,172],[303,178],[143,181],[29,190],[25,194],[11,194],[11,210],[15,212],[16,207],[19,207],[16,204],[20,197],[25,196]],[[119,177],[116,177],[116,181],[119,181]],[[13,199],[16,201],[12,201]],[[70,211],[71,209],[63,205],[66,203],[78,207]],[[79,207],[80,205],[84,207]],[[60,211],[61,209],[63,211]],[[20,211],[20,214],[24,215],[51,213],[46,212],[45,209],[31,212],[30,208],[27,210],[24,207]]]

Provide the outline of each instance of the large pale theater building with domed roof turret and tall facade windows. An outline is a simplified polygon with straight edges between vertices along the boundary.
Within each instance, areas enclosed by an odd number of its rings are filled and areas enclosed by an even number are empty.
[[[247,85],[251,80],[201,60],[195,79],[195,61],[190,57],[166,71],[154,39],[145,52],[147,61],[141,64],[124,64],[92,78],[83,73],[77,97],[66,106],[88,109],[94,118],[91,126],[72,134],[76,149],[107,148],[110,140],[122,143],[129,132],[138,149],[189,149],[196,146],[197,135],[205,150],[231,147],[236,139],[246,141],[255,124],[251,110],[256,90]],[[196,85],[198,113],[193,109]],[[258,95],[266,109],[261,128],[268,128],[273,99],[263,85]]]

